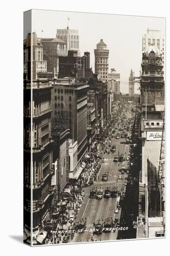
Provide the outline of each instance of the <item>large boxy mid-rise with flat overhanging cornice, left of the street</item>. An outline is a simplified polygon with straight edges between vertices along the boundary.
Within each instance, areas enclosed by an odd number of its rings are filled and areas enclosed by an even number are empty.
[[[58,126],[70,129],[70,138],[78,141],[78,162],[87,151],[87,89],[83,82],[69,78],[54,80],[52,114],[58,117]]]

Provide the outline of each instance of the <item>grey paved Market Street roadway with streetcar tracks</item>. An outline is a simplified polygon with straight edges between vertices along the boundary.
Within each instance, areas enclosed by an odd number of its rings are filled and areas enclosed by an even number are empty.
[[[128,115],[128,117],[130,117]],[[85,217],[86,218],[86,231],[84,233],[75,233],[73,239],[70,243],[79,243],[79,242],[87,242],[91,241],[93,237],[94,241],[107,241],[107,240],[115,240],[118,236],[118,231],[110,232],[110,233],[102,233],[101,235],[93,235],[93,232],[90,232],[90,229],[93,229],[93,223],[97,220],[105,220],[106,217],[112,217],[113,219],[120,218],[121,209],[118,210],[118,213],[115,213],[117,198],[102,198],[91,199],[89,198],[90,189],[93,187],[103,188],[105,187],[117,187],[118,190],[121,190],[124,181],[118,180],[118,175],[120,174],[119,168],[121,168],[123,162],[113,162],[114,156],[123,153],[124,157],[128,156],[130,145],[122,144],[120,142],[124,142],[125,139],[112,139],[111,146],[116,145],[116,152],[114,154],[103,154],[102,157],[105,157],[105,162],[101,164],[101,169],[98,172],[97,182],[95,182],[92,186],[84,189],[85,198],[82,202],[81,208],[79,209],[78,215],[76,217],[75,222],[79,219]],[[110,148],[109,148],[110,149]],[[119,164],[119,167],[118,167]],[[125,167],[127,165],[127,161],[125,161]],[[102,182],[102,174],[108,172],[108,180],[107,182]],[[124,173],[122,175],[123,178],[127,177],[127,174]],[[117,182],[118,180],[118,182]],[[125,191],[125,187],[124,187]]]

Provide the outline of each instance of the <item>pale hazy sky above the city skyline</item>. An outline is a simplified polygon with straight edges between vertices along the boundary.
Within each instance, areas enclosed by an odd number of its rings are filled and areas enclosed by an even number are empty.
[[[128,93],[128,81],[132,70],[139,76],[142,60],[142,35],[147,28],[161,30],[165,34],[165,19],[98,13],[73,13],[33,10],[32,31],[38,37],[56,37],[57,28],[78,29],[81,55],[90,52],[94,72],[94,49],[103,39],[109,49],[109,72],[115,68],[120,73],[120,90]],[[41,30],[44,32],[42,33]],[[137,85],[136,90],[137,92]],[[139,92],[139,91],[138,91]]]

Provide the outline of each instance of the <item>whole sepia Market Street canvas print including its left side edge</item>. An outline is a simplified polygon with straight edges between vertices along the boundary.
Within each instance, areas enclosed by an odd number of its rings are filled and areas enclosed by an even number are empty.
[[[24,12],[25,244],[166,237],[165,23]]]

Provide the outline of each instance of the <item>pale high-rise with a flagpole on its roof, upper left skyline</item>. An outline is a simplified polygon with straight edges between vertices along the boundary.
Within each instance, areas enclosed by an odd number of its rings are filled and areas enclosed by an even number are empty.
[[[66,42],[67,52],[78,51],[78,56],[80,56],[78,30],[69,29],[69,27],[66,29],[57,29],[56,37]]]

